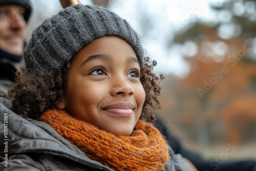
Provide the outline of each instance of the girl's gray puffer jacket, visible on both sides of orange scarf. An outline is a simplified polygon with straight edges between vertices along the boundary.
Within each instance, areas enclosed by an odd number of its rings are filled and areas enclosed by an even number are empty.
[[[11,102],[0,97],[0,170],[113,170],[87,157],[45,122],[24,119],[11,109]],[[170,156],[163,170],[188,170],[180,155],[170,150]]]

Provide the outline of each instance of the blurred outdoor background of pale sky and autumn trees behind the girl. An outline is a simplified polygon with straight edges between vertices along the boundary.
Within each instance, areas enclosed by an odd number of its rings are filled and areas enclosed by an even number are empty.
[[[27,40],[58,0],[31,0]],[[256,1],[109,0],[105,4],[139,33],[158,62],[162,109],[157,111],[182,144],[205,158],[256,159]]]

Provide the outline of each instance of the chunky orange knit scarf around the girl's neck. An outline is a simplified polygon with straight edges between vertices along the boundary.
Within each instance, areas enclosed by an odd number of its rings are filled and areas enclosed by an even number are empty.
[[[62,110],[48,110],[39,120],[51,125],[91,159],[115,170],[161,170],[169,158],[163,136],[153,124],[141,120],[131,136],[100,130]]]

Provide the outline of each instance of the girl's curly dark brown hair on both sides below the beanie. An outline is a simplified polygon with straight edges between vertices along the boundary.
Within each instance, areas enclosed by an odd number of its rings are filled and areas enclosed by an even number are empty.
[[[50,78],[36,70],[17,73],[16,84],[8,92],[14,112],[24,118],[38,119],[46,110],[56,108],[64,97],[71,64],[72,60]],[[153,73],[156,64],[155,60],[151,61],[151,58],[145,57],[140,75],[146,94],[140,119],[152,122],[155,120],[154,110],[160,108],[159,83],[164,78],[163,74],[157,76]]]

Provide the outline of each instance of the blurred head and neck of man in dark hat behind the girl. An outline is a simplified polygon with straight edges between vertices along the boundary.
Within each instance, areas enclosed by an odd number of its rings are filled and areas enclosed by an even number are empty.
[[[25,33],[32,8],[29,0],[0,1],[0,91],[7,94],[22,68]]]

